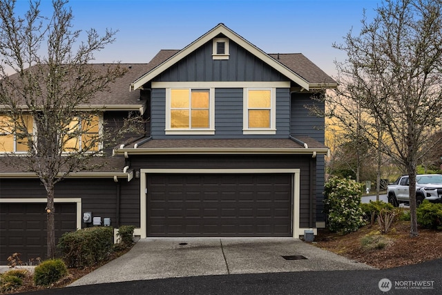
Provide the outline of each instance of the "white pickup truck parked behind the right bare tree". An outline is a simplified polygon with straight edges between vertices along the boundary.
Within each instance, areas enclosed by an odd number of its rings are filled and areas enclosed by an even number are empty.
[[[390,204],[398,207],[399,204],[410,204],[408,175],[399,177],[392,184],[388,184],[387,198]],[[442,175],[418,174],[416,175],[416,206],[419,207],[423,200],[441,202],[442,200]]]

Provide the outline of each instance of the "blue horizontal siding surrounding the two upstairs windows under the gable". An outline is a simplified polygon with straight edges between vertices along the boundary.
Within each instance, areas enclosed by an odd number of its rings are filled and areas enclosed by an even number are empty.
[[[276,88],[276,134],[243,135],[243,89],[215,88],[215,135],[165,135],[166,90],[152,89],[151,135],[156,139],[172,138],[287,138],[290,134],[289,88]]]

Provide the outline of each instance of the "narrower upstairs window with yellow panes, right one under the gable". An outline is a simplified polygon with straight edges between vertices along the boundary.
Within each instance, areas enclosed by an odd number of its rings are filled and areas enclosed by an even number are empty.
[[[276,133],[274,88],[244,89],[244,134]]]

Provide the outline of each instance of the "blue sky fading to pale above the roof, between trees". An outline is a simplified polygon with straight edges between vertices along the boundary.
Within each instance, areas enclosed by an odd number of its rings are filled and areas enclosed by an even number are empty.
[[[95,61],[148,63],[161,49],[182,49],[218,23],[224,23],[265,53],[302,53],[336,77],[334,61],[345,53],[332,47],[350,30],[358,33],[365,10],[376,14],[381,0],[70,0],[73,28],[118,30],[116,40]],[[28,0],[17,0],[17,12]],[[41,0],[44,15],[50,0]]]

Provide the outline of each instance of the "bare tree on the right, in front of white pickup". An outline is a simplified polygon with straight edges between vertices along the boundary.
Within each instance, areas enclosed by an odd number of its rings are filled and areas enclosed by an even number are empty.
[[[410,175],[410,236],[418,236],[416,163],[437,144],[442,109],[442,2],[385,0],[358,35],[350,31],[335,48],[347,53],[338,63],[345,91],[385,127],[381,150]]]

